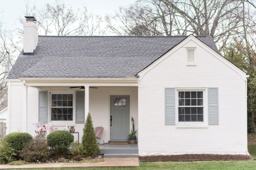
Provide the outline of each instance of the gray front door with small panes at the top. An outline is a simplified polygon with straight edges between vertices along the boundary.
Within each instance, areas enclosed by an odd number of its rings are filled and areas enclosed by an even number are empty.
[[[127,140],[130,128],[130,96],[110,96],[110,140]]]

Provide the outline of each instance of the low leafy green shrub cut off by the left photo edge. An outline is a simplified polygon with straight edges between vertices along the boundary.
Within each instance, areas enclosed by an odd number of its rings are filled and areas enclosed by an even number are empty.
[[[0,144],[0,164],[7,164],[15,160],[15,150],[14,148],[10,147],[6,142],[2,142]]]

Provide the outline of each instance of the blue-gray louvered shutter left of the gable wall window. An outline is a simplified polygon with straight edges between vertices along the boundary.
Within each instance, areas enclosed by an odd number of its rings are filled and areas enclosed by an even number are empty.
[[[175,125],[174,88],[165,88],[165,125]]]

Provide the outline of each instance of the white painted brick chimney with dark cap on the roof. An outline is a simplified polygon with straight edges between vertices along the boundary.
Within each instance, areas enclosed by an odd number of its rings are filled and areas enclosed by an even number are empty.
[[[38,43],[38,25],[36,18],[25,16],[26,22],[23,24],[23,55],[33,55]]]

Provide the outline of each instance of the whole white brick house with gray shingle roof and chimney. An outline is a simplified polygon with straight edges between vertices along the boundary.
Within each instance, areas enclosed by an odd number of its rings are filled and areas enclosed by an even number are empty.
[[[133,117],[141,156],[248,154],[247,75],[211,36],[38,37],[28,17],[7,81],[7,133],[41,122],[81,138],[90,112],[105,142]]]

